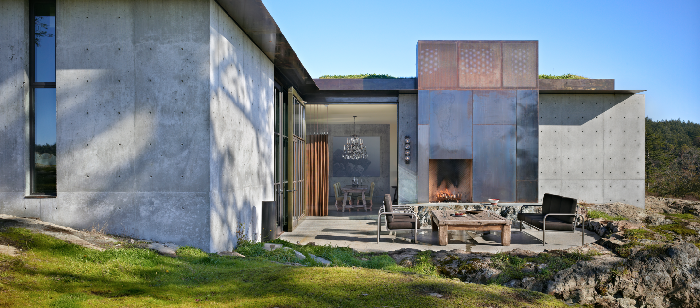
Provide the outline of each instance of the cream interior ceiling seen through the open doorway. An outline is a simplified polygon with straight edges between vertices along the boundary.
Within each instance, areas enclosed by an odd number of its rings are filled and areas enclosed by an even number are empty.
[[[316,121],[314,106],[307,105],[307,123]],[[328,124],[353,124],[353,116],[357,116],[357,124],[395,124],[396,105],[393,104],[329,104]]]

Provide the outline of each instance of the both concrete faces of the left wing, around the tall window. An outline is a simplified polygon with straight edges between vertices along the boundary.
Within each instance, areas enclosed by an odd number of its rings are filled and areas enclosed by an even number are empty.
[[[221,251],[272,200],[273,65],[214,0],[57,1],[57,197],[25,199],[27,1],[0,2],[0,213]]]

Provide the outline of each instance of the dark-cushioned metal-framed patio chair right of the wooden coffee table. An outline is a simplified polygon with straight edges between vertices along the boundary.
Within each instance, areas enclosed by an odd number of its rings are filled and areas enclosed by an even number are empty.
[[[523,213],[526,207],[542,207],[542,214]],[[577,200],[560,195],[545,194],[542,205],[524,205],[518,212],[520,232],[523,232],[523,224],[529,225],[535,230],[542,231],[542,246],[547,244],[547,231],[552,232],[576,232],[576,223],[581,218],[583,223],[581,230],[581,244],[586,241],[586,218],[578,214]],[[554,217],[556,216],[556,217]]]

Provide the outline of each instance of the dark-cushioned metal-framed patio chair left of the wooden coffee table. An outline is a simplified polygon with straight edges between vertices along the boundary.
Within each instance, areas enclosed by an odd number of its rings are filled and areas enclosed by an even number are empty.
[[[391,195],[386,194],[377,216],[377,244],[381,237],[381,216],[384,216],[387,231],[413,231],[413,240],[416,241],[418,229],[421,228],[418,216],[410,207],[394,207],[391,204]]]

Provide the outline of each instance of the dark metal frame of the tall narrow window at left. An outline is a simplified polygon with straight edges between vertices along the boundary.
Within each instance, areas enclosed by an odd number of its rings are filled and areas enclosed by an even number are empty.
[[[34,89],[40,88],[56,88],[56,83],[37,83],[35,82],[35,63],[36,55],[34,55],[34,5],[41,3],[52,3],[56,5],[55,0],[30,0],[29,1],[29,196],[27,197],[55,197],[56,193],[35,193],[34,192]],[[58,36],[58,29],[56,34]]]

